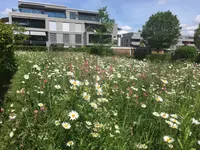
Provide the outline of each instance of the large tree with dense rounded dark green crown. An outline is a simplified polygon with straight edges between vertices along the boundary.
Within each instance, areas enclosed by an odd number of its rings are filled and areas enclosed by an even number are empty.
[[[143,26],[141,36],[151,50],[161,50],[177,44],[180,22],[170,11],[153,14]]]

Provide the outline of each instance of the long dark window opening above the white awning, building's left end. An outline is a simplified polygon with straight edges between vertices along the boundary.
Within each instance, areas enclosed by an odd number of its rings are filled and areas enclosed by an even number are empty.
[[[28,28],[45,28],[45,20],[12,18],[13,23]]]

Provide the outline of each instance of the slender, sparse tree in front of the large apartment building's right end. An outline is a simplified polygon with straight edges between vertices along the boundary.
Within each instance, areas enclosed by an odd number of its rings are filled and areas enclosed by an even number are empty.
[[[92,39],[94,47],[91,49],[92,54],[106,55],[109,53],[112,44],[112,32],[115,21],[110,19],[107,7],[99,9],[99,25],[94,30]]]

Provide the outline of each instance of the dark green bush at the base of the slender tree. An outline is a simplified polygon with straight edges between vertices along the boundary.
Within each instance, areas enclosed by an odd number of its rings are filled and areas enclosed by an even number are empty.
[[[99,56],[112,56],[114,55],[114,52],[110,47],[94,45],[90,47],[90,54]]]

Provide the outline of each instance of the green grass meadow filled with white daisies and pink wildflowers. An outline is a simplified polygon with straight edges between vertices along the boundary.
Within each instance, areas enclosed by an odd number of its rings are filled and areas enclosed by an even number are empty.
[[[1,150],[200,149],[200,66],[82,53],[16,55],[19,68],[0,113]],[[70,120],[71,111],[77,119]]]

